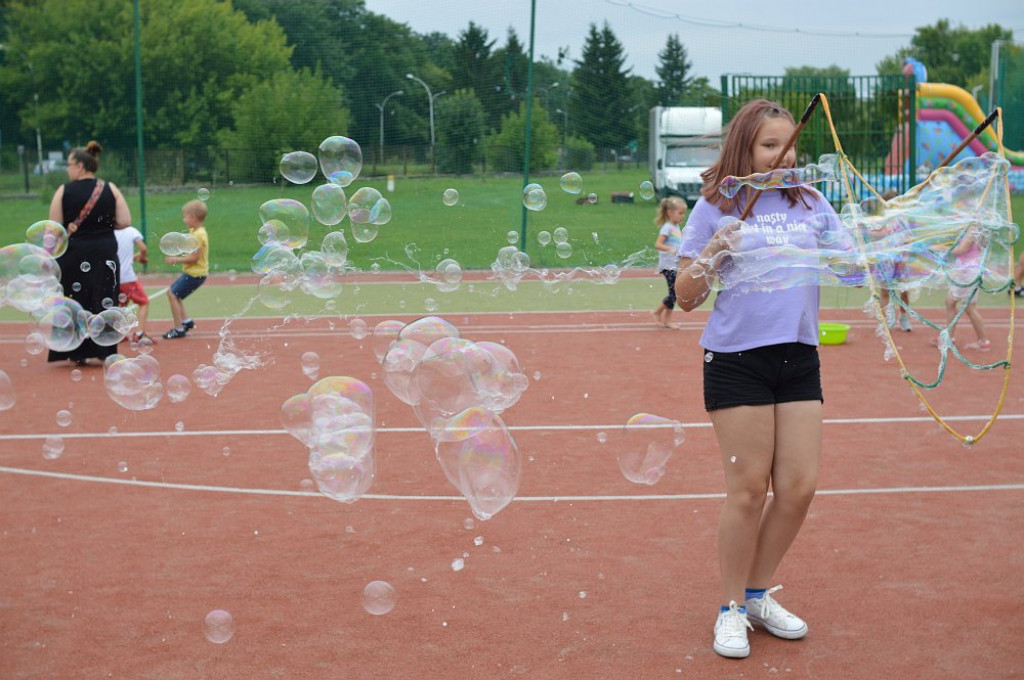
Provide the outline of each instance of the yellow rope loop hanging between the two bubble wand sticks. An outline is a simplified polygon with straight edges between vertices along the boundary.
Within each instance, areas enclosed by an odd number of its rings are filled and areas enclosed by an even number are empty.
[[[857,178],[860,179],[860,181],[862,181],[864,183],[864,185],[872,194],[874,194],[874,196],[877,196],[877,197],[879,197],[881,199],[881,196],[874,189],[874,187],[871,186],[870,182],[868,182],[857,171],[857,169],[853,166],[853,164],[850,162],[850,160],[846,157],[846,154],[843,152],[843,144],[840,141],[839,133],[836,131],[836,125],[835,125],[835,123],[833,121],[833,117],[831,117],[831,110],[828,107],[828,98],[823,93],[820,96],[821,96],[821,107],[822,107],[822,110],[824,111],[825,119],[828,122],[828,129],[831,132],[833,142],[836,145],[836,153],[839,156],[840,168],[842,170],[843,186],[846,189],[847,201],[849,201],[850,203],[853,203],[853,201],[854,201],[854,193],[853,193],[852,187],[850,185],[850,175],[849,175],[850,172],[852,172],[854,175],[856,175]],[[999,111],[999,116],[998,116],[996,138],[997,138],[997,141],[998,141],[999,153],[1001,154],[1001,156],[1004,158],[1006,158],[1007,152],[1006,152],[1006,147],[1002,145],[1002,112],[1001,112],[1001,110]],[[937,170],[932,171],[932,173],[929,174],[928,178],[925,179],[924,182],[922,182],[918,186],[912,187],[909,192],[907,192],[907,195],[916,196],[918,194],[920,194],[921,190],[925,186],[927,186],[929,183],[931,183],[932,177],[935,176],[936,172],[937,172]],[[988,194],[988,190],[991,188],[991,183],[992,183],[992,179],[989,180],[988,186],[985,187],[985,194],[984,195]],[[1004,183],[1005,183],[1004,188],[1006,189],[1005,194],[1006,194],[1006,197],[1007,197],[1007,215],[1010,217],[1010,220],[1013,221],[1013,210],[1012,210],[1012,206],[1011,206],[1011,203],[1010,203],[1009,178],[1004,178]],[[861,254],[865,254],[867,251],[866,251],[865,246],[863,244],[863,241],[861,239],[860,230],[859,229],[854,229],[854,236],[856,237],[857,248],[858,248],[859,252]],[[874,304],[876,314],[877,314],[877,316],[878,316],[879,320],[884,320],[885,318],[885,312],[882,310],[881,296],[879,295],[878,289],[876,288],[874,279],[871,275],[869,275],[870,274],[870,267],[868,266],[868,262],[866,261],[867,260],[866,255],[864,255],[862,259],[863,259],[863,261],[861,262],[861,265],[864,267],[865,271],[868,273],[868,275],[867,275],[867,285],[868,285],[868,289],[869,289],[869,291],[871,293],[871,302]],[[1010,262],[1009,262],[1009,264],[1010,264],[1010,270],[1012,271],[1013,267],[1014,267],[1014,252],[1013,252],[1012,248],[1009,249],[1009,259],[1010,259]],[[1001,411],[1002,411],[1002,406],[1006,402],[1007,392],[1009,391],[1009,388],[1010,388],[1010,370],[1011,370],[1011,367],[1013,365],[1012,362],[1011,362],[1011,358],[1013,357],[1013,350],[1014,350],[1014,310],[1015,310],[1015,298],[1016,298],[1015,295],[1011,295],[1010,296],[1010,336],[1009,336],[1009,339],[1008,339],[1007,359],[1006,359],[1006,365],[1004,367],[1005,372],[1004,372],[1004,376],[1002,376],[1002,389],[1001,389],[1001,391],[999,393],[999,399],[998,399],[997,403],[995,405],[995,410],[992,412],[991,417],[989,417],[989,419],[985,423],[984,427],[982,427],[981,430],[977,434],[974,434],[974,435],[961,434],[949,423],[947,423],[938,413],[936,413],[935,409],[933,409],[932,405],[929,403],[928,398],[925,396],[924,392],[922,392],[921,388],[916,384],[914,384],[913,382],[910,381],[910,379],[909,379],[910,372],[907,370],[906,365],[903,363],[903,357],[900,355],[899,348],[897,347],[896,342],[893,340],[892,333],[889,331],[888,324],[884,324],[884,323],[880,324],[880,326],[882,327],[883,333],[885,335],[885,338],[886,338],[886,343],[889,345],[889,348],[893,351],[893,355],[896,357],[896,362],[899,364],[901,375],[903,376],[903,379],[907,382],[907,384],[910,385],[910,389],[912,389],[913,392],[914,392],[914,394],[918,396],[918,400],[921,401],[921,405],[923,407],[925,407],[925,409],[932,416],[932,418],[934,418],[935,421],[939,425],[941,425],[943,429],[945,429],[947,432],[949,432],[954,437],[956,437],[957,439],[959,439],[961,441],[963,441],[965,444],[968,444],[968,445],[980,441],[982,439],[982,437],[984,437],[985,434],[988,433],[988,431],[992,428],[992,425],[995,424],[995,421],[998,418],[999,413],[1001,413]]]

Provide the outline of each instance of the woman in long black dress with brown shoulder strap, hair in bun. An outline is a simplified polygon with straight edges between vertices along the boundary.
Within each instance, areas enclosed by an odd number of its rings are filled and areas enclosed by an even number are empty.
[[[118,304],[121,277],[114,229],[131,224],[128,203],[118,187],[96,178],[102,151],[96,141],[71,150],[70,181],[50,201],[50,219],[68,229],[68,250],[57,258],[65,295],[94,314]],[[71,359],[81,365],[89,357],[102,360],[117,350],[117,345],[100,346],[86,338],[71,351],[50,350],[49,360]]]

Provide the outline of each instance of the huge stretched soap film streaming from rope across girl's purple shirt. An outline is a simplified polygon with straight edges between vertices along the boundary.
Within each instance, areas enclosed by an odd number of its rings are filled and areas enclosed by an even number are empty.
[[[820,172],[820,167],[815,172]],[[994,155],[936,171],[889,202],[848,203],[838,216],[812,215],[784,230],[723,218],[729,248],[712,262],[718,290],[770,291],[795,286],[863,286],[896,293],[959,289],[998,293],[1013,285],[1011,253],[1020,227],[1007,213],[1009,163]],[[965,241],[974,256],[954,254]],[[708,275],[702,266],[694,277]]]

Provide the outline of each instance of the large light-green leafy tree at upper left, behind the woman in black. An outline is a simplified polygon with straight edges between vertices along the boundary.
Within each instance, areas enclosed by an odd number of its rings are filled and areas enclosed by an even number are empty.
[[[289,68],[281,29],[249,24],[227,3],[151,0],[140,18],[147,145],[212,143],[231,101]],[[134,144],[131,3],[18,3],[7,22],[0,88],[25,128],[72,144]]]

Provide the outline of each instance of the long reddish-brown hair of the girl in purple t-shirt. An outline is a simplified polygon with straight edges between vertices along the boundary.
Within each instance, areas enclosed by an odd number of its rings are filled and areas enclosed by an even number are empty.
[[[784,118],[796,126],[797,122],[793,114],[786,111],[781,104],[770,99],[753,99],[743,104],[742,109],[729,122],[725,130],[725,141],[722,144],[722,154],[718,157],[710,168],[700,173],[703,186],[700,187],[700,196],[708,203],[718,206],[723,212],[732,212],[737,209],[740,203],[745,204],[753,193],[749,186],[729,199],[719,193],[718,187],[729,175],[733,177],[745,177],[754,174],[754,139],[758,136],[758,130],[762,123],[769,118]],[[796,151],[796,144],[794,144]],[[807,206],[806,193],[801,187],[778,189],[786,198],[791,206],[797,205],[799,200]],[[742,197],[742,201],[740,198]]]

